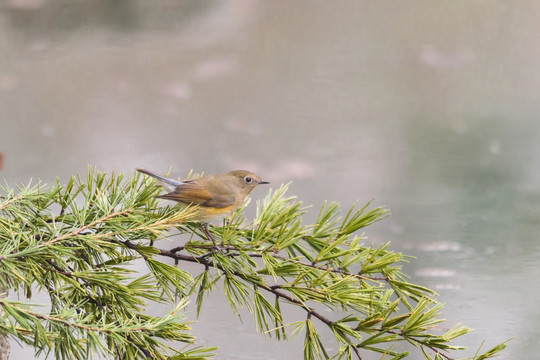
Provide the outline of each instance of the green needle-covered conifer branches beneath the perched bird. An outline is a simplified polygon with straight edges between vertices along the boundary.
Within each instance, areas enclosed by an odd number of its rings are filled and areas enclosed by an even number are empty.
[[[175,303],[196,294],[197,312],[219,283],[234,312],[245,307],[257,329],[277,339],[305,332],[305,358],[328,358],[317,326],[329,328],[340,352],[336,358],[362,359],[364,352],[394,358],[407,341],[436,358],[454,360],[461,349],[450,341],[469,329],[444,335],[429,331],[438,324],[441,305],[432,290],[411,283],[401,272],[407,258],[389,245],[365,246],[358,231],[381,220],[381,208],[351,207],[344,217],[336,203],[324,204],[313,225],[286,186],[258,203],[249,224],[237,211],[228,224],[201,231],[196,208],[161,206],[159,188],[139,176],[124,178],[89,169],[85,180],[66,185],[4,188],[0,195],[0,285],[31,300],[44,292],[48,312],[27,304],[0,301],[0,335],[9,335],[57,359],[87,359],[95,354],[120,359],[207,359],[213,348],[195,345],[188,323],[176,307],[163,317],[146,314],[147,302]],[[189,240],[170,250],[156,246],[166,238]],[[201,265],[200,273],[158,261]],[[147,265],[138,273],[130,265]],[[268,299],[273,299],[272,304]],[[306,313],[306,320],[286,324],[281,306]],[[319,307],[331,315],[323,315]],[[317,319],[315,323],[312,321]],[[292,328],[292,331],[289,329]],[[168,342],[165,345],[164,341]],[[502,351],[499,344],[475,359]]]

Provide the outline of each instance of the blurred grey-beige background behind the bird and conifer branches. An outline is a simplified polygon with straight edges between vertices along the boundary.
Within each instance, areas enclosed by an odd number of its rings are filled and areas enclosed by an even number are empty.
[[[306,221],[375,198],[392,216],[366,243],[416,257],[442,326],[475,329],[462,356],[515,336],[500,358],[530,358],[539,31],[519,0],[1,0],[0,179],[245,168],[292,181]],[[216,359],[302,358],[213,295],[194,329]]]

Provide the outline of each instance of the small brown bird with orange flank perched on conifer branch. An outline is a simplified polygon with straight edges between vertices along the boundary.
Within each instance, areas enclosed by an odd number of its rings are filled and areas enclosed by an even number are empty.
[[[185,205],[198,205],[197,220],[203,224],[203,230],[212,242],[214,240],[208,232],[208,223],[230,216],[244,203],[257,185],[269,184],[268,181],[263,181],[258,175],[246,170],[234,170],[184,181],[166,178],[145,169],[137,171],[158,179],[161,186],[169,191],[157,198]]]

